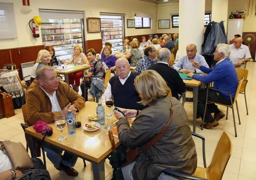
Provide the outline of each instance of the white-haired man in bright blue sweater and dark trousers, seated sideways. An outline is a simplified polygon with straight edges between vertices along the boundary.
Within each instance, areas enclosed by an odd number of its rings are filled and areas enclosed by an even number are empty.
[[[213,88],[221,91],[226,91],[231,93],[232,99],[235,97],[235,92],[238,87],[238,76],[232,62],[229,59],[230,48],[227,44],[218,44],[214,52],[214,60],[217,62],[214,68],[207,68],[201,66],[198,62],[193,61],[193,66],[199,68],[204,73],[208,75],[198,75],[194,73],[188,73],[188,77],[192,77],[204,83],[214,82]],[[229,93],[224,93],[220,91],[210,91],[208,93],[208,101],[221,103],[224,105],[230,105]],[[198,96],[198,107],[197,115],[203,118],[203,112],[206,103],[206,89],[199,91]],[[214,112],[214,117],[211,113]],[[208,104],[206,108],[205,124],[203,128],[210,129],[219,125],[217,121],[223,118],[225,114],[221,112],[217,105],[214,103]]]

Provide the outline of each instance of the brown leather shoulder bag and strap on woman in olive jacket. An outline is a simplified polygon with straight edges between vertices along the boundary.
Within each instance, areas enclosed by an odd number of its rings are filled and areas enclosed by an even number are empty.
[[[171,111],[171,115],[170,115],[169,121],[168,121],[167,125],[165,126],[165,128],[154,139],[152,139],[149,142],[149,144],[144,146],[144,148],[142,148],[142,150],[139,151],[137,147],[130,148],[130,150],[128,150],[126,152],[126,163],[122,164],[121,167],[127,166],[131,162],[134,162],[137,159],[139,153],[142,153],[144,150],[148,149],[150,146],[155,144],[155,142],[158,141],[162,137],[162,135],[165,134],[166,130],[169,128],[169,125],[170,125],[170,123],[172,121],[172,116],[173,116],[173,101],[172,101],[172,99],[171,99],[170,111]]]

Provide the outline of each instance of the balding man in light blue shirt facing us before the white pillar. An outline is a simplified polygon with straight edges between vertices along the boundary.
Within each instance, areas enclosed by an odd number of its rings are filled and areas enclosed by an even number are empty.
[[[195,68],[192,65],[192,60],[199,62],[201,66],[205,66],[209,68],[208,64],[206,63],[206,60],[202,55],[197,54],[197,46],[194,44],[187,45],[187,55],[181,57],[181,59],[176,62],[172,68],[174,68],[176,71],[180,73],[203,73],[199,68]]]

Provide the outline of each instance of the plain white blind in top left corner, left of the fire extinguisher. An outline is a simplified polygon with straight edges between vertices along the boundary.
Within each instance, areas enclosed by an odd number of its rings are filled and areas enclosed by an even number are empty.
[[[17,38],[13,3],[0,2],[0,39]]]

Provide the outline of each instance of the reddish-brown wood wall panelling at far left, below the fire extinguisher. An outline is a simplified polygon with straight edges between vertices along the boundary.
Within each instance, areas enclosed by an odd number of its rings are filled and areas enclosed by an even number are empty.
[[[0,68],[3,64],[16,64],[19,77],[22,80],[21,63],[32,62],[37,59],[39,50],[44,49],[44,46],[29,46],[23,48],[13,48],[0,50]]]

